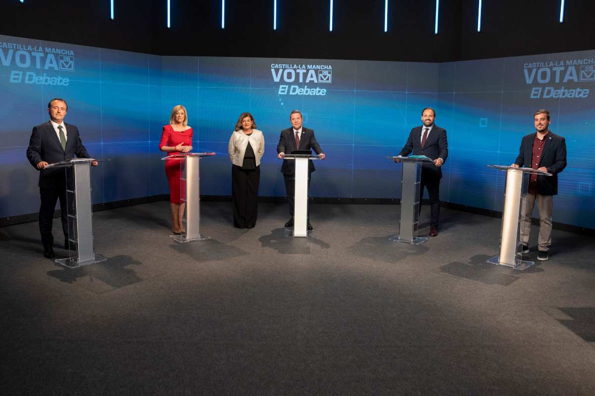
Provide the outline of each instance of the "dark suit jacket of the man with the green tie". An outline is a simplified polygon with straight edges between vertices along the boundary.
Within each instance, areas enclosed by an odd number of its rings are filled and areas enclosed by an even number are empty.
[[[60,139],[54,130],[51,122],[33,127],[29,147],[27,147],[27,159],[35,169],[41,161],[53,164],[54,162],[64,161],[65,159],[90,158],[89,153],[80,140],[79,129],[72,124],[64,122],[66,127],[67,139],[66,149],[62,150]],[[56,188],[65,186],[64,169],[49,168],[42,169],[39,172],[39,187]]]

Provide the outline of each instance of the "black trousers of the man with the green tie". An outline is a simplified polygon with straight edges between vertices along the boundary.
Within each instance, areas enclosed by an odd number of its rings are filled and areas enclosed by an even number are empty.
[[[68,238],[68,210],[66,202],[66,187],[39,188],[41,206],[39,208],[39,232],[44,249],[50,249],[54,245],[52,235],[52,222],[54,221],[54,208],[60,199],[60,212],[62,215],[62,231],[64,239]]]

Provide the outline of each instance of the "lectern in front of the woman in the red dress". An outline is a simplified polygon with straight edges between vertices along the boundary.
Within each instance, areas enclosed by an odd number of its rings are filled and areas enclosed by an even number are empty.
[[[180,198],[186,203],[183,224],[186,224],[181,235],[170,235],[174,241],[186,243],[210,239],[201,234],[201,158],[213,156],[215,153],[180,153],[161,158],[162,161],[180,162]]]

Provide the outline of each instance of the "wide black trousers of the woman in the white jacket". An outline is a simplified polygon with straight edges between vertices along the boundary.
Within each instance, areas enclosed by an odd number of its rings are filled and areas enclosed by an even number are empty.
[[[258,184],[260,166],[243,169],[231,165],[231,202],[233,202],[233,226],[252,228],[258,216]]]

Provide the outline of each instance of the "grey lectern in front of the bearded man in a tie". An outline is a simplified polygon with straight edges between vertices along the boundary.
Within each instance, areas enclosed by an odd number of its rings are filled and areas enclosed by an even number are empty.
[[[403,162],[403,175],[401,177],[401,218],[399,220],[399,234],[389,239],[395,242],[419,245],[428,238],[418,237],[419,205],[421,196],[419,185],[421,183],[421,164],[433,162],[425,155],[412,155],[409,157],[392,156],[390,159],[399,159]]]

